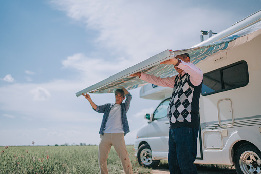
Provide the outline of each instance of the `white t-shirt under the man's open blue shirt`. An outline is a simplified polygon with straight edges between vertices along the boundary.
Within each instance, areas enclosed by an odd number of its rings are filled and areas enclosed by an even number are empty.
[[[114,104],[111,108],[104,133],[124,133],[121,121],[121,105]]]

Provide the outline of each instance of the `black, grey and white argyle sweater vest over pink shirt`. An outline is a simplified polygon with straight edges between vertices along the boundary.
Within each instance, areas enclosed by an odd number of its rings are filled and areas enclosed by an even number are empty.
[[[199,129],[199,97],[202,82],[192,85],[190,75],[176,76],[167,116],[170,129],[190,127]]]

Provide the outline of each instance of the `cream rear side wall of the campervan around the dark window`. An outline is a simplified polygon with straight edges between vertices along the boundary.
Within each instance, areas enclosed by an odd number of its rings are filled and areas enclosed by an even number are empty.
[[[213,69],[219,69],[241,60],[248,65],[249,82],[244,87],[227,90],[212,95],[200,97],[200,123],[202,136],[203,159],[196,160],[196,163],[205,164],[230,164],[233,165],[232,149],[240,141],[248,141],[261,150],[261,35],[253,40],[223,53],[225,59],[215,62],[215,58],[201,62],[197,66],[207,73]],[[216,57],[217,59],[219,57]],[[220,126],[218,110],[220,102],[228,101],[231,111],[230,126]],[[223,106],[222,106],[223,107]],[[226,108],[225,108],[226,109]],[[226,111],[225,111],[226,112]],[[205,126],[203,126],[205,125]],[[211,125],[218,125],[218,128],[211,128]],[[211,142],[206,137],[217,131],[220,139]],[[220,145],[221,147],[209,148],[206,146]],[[215,157],[215,158],[213,158]]]

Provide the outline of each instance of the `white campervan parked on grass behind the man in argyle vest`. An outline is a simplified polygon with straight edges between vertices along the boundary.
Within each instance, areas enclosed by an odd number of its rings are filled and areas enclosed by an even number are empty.
[[[256,20],[250,22],[253,16]],[[193,47],[231,39],[219,54],[197,63],[203,87],[195,163],[261,173],[261,11]],[[148,122],[137,133],[134,149],[140,165],[153,167],[167,160],[171,93],[171,88],[152,84],[140,89],[141,98],[161,100],[153,113],[145,114]]]

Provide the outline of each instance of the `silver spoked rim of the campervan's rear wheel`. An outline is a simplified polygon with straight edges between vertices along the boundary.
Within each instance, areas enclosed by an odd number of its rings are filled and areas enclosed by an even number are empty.
[[[239,164],[244,173],[261,173],[261,159],[253,151],[245,151],[241,154]]]

